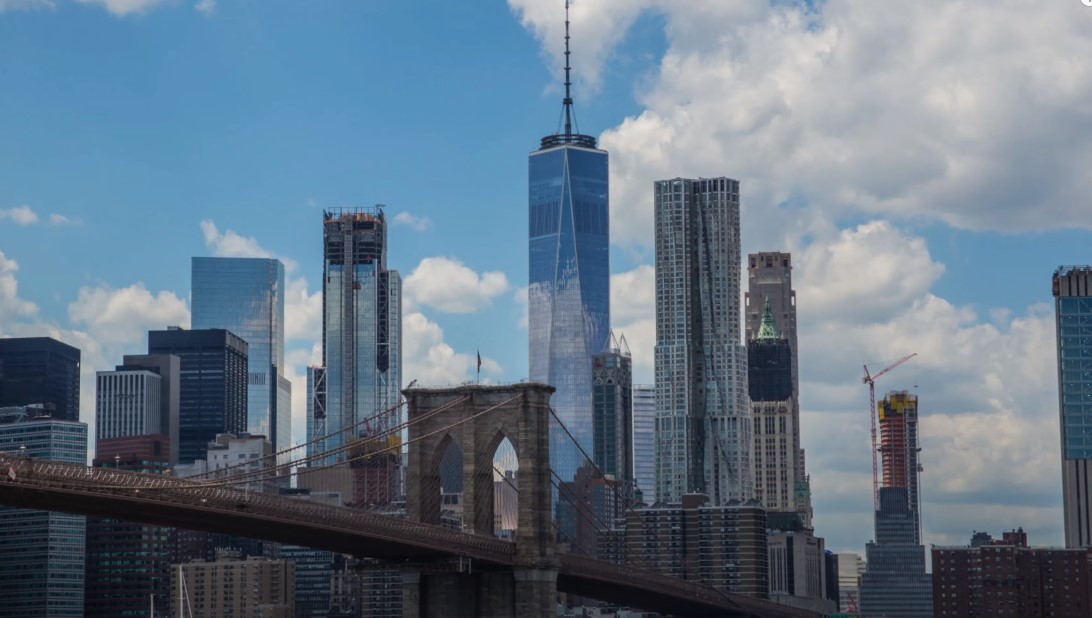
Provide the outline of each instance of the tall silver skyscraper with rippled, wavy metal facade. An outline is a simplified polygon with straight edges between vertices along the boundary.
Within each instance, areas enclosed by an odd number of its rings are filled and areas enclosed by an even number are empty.
[[[753,435],[739,329],[739,182],[655,183],[656,500],[750,499]]]

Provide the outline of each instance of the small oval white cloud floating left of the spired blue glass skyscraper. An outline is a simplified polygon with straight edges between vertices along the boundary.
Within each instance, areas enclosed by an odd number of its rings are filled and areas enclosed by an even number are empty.
[[[500,271],[480,275],[454,258],[425,258],[405,278],[412,301],[448,313],[473,313],[510,289]]]

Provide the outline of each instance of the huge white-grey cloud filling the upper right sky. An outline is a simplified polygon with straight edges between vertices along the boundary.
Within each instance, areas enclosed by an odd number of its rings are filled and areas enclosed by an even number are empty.
[[[558,58],[560,8],[509,3],[536,35],[548,33]],[[596,64],[593,75],[636,15],[666,23],[668,50],[638,93],[644,110],[602,136],[616,242],[649,243],[650,180],[678,175],[741,180],[745,222],[759,212],[792,221],[770,209],[794,199],[831,219],[1092,226],[1082,216],[1092,177],[1080,163],[1092,144],[1079,138],[1092,130],[1083,52],[1092,31],[1079,2],[601,0],[574,9],[598,38],[575,56]]]

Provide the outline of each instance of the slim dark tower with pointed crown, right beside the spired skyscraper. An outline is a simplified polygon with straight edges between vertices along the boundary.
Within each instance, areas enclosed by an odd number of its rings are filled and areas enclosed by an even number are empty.
[[[615,340],[610,333],[610,347],[595,355],[594,366],[592,457],[628,496],[633,491],[633,360],[626,337]]]

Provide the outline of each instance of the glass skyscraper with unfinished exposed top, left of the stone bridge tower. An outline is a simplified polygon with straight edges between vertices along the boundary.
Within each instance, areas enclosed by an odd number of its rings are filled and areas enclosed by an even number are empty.
[[[387,268],[387,217],[379,206],[322,216],[325,405],[310,405],[316,416],[308,419],[314,437],[325,437],[314,447],[320,452],[394,427],[402,417],[395,409],[402,399],[402,277]]]

